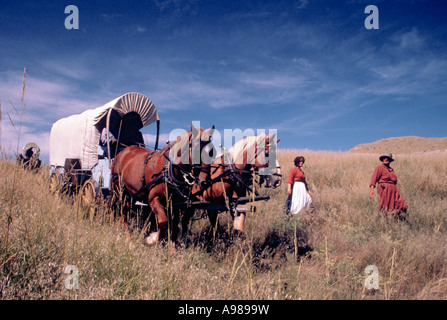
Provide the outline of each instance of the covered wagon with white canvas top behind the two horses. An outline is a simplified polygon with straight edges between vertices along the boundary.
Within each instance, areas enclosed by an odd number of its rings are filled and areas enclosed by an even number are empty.
[[[135,92],[58,120],[50,134],[50,189],[107,195],[115,155],[127,146],[144,145],[140,130],[153,123],[157,132],[152,148],[157,150],[158,111],[149,98]]]

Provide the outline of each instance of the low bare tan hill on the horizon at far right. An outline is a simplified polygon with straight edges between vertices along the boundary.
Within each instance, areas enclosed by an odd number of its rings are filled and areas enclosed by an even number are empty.
[[[425,153],[447,152],[447,138],[422,138],[422,137],[397,137],[378,140],[372,143],[364,143],[355,146],[349,152],[352,153]]]

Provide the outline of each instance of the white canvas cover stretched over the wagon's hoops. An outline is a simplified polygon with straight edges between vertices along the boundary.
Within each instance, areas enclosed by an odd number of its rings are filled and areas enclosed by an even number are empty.
[[[64,166],[65,159],[71,158],[80,159],[81,169],[93,168],[98,163],[102,129],[109,125],[113,127],[112,120],[116,122],[129,113],[139,115],[141,123],[135,123],[138,130],[159,120],[153,102],[136,92],[126,93],[102,107],[58,120],[51,128],[50,165]]]

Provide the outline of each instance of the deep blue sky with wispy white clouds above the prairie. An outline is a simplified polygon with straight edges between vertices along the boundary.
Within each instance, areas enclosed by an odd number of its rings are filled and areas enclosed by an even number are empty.
[[[279,148],[445,137],[446,16],[441,0],[2,0],[2,146],[45,155],[53,122],[134,91],[157,106],[162,141],[192,121],[277,129]]]

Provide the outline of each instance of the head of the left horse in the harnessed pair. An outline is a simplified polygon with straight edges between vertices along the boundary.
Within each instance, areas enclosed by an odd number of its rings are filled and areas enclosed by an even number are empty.
[[[206,130],[192,126],[177,138],[170,150],[171,161],[189,172],[185,180],[193,185],[193,191],[205,188],[210,180],[210,165],[203,162],[201,155],[213,133],[214,125]]]

